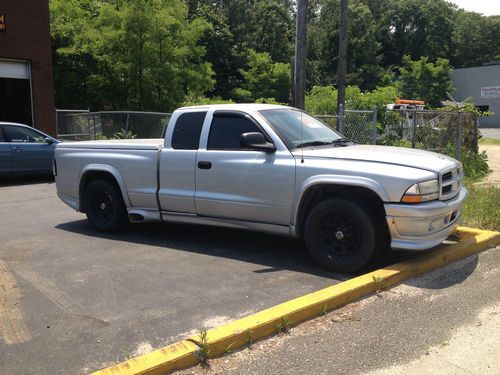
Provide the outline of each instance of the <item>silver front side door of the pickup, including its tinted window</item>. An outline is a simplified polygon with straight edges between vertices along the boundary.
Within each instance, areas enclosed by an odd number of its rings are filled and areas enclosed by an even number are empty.
[[[288,150],[255,151],[240,146],[243,133],[261,132],[237,111],[213,115],[206,148],[196,157],[196,213],[200,216],[289,225],[295,159]]]

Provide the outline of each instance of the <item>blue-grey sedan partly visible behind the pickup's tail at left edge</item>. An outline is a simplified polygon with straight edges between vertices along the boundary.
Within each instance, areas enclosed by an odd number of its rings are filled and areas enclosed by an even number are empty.
[[[0,175],[52,173],[57,143],[30,126],[0,122]]]

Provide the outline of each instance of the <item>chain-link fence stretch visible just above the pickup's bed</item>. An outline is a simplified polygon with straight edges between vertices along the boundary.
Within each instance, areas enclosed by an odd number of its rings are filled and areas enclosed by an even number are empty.
[[[57,136],[71,141],[160,138],[170,115],[161,112],[57,110]]]

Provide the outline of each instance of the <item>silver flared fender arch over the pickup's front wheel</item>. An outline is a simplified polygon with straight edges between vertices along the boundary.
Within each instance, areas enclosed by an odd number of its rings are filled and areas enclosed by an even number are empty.
[[[297,217],[299,214],[299,207],[304,197],[304,194],[312,187],[318,185],[343,185],[343,186],[356,186],[363,187],[373,191],[377,194],[383,202],[389,202],[389,195],[385,191],[385,188],[377,181],[366,177],[358,176],[345,176],[345,175],[315,175],[307,178],[300,185],[300,187],[295,192],[295,197],[292,206],[292,217],[291,223],[295,227],[297,225]]]

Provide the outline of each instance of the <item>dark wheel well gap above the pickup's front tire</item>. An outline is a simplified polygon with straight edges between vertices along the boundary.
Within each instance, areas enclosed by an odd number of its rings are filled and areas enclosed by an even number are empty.
[[[345,198],[354,202],[362,202],[386,226],[384,202],[373,190],[361,186],[349,185],[315,185],[302,196],[297,212],[296,231],[303,237],[304,224],[309,212],[320,202],[332,198]]]

